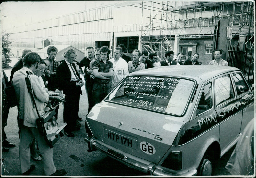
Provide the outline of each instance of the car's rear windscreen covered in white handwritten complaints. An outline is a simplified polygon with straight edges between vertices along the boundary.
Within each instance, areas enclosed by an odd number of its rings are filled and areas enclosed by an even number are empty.
[[[188,79],[154,76],[127,77],[105,101],[182,115],[195,82]]]

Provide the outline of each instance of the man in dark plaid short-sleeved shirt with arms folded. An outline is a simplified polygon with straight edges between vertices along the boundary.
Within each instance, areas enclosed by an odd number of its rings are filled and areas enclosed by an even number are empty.
[[[92,88],[93,105],[100,103],[111,91],[111,78],[114,73],[113,63],[107,60],[110,49],[103,46],[99,50],[100,59],[95,60],[92,65],[94,84]]]

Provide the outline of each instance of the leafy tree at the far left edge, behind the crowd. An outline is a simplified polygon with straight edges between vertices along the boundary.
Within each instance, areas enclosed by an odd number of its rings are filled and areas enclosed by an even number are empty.
[[[6,64],[5,67],[9,68],[9,63],[11,62],[11,56],[13,56],[13,54],[11,53],[11,48],[10,48],[10,44],[12,43],[12,41],[9,40],[9,33],[2,33],[2,53],[5,56],[5,60],[6,60]]]

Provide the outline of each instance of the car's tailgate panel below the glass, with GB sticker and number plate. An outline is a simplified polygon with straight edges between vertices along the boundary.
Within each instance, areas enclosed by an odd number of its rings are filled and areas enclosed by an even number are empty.
[[[87,115],[97,140],[153,163],[158,163],[168,151],[181,121],[171,115],[104,101]]]

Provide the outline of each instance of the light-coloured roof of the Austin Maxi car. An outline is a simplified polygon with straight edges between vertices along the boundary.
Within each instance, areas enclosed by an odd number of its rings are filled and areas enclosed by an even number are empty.
[[[129,75],[157,75],[157,76],[172,76],[172,77],[184,77],[192,78],[202,81],[208,80],[223,73],[237,71],[239,69],[229,66],[217,66],[217,65],[172,65],[162,66],[156,68],[150,68],[145,70],[139,70],[132,72]]]

